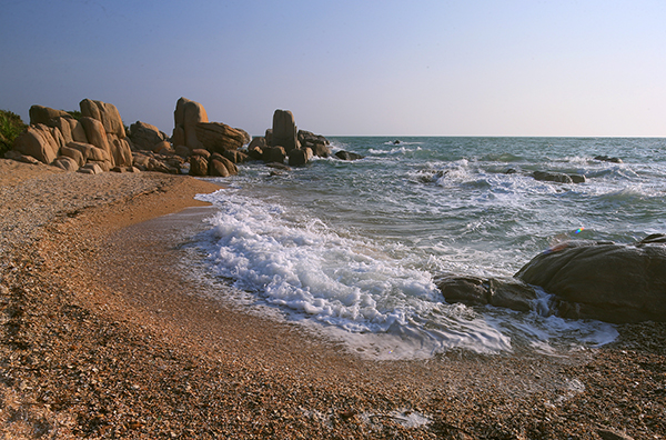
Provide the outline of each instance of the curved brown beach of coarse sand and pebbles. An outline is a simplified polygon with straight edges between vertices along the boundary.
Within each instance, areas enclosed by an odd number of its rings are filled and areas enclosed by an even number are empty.
[[[664,324],[568,357],[380,361],[215,300],[180,261],[220,188],[0,159],[0,438],[666,436]]]

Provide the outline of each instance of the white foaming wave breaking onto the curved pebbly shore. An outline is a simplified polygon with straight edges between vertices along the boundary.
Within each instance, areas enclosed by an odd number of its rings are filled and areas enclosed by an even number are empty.
[[[300,320],[311,328],[319,322],[355,352],[380,359],[453,348],[500,352],[513,350],[515,341],[548,351],[568,331],[592,346],[608,339],[608,328],[542,318],[536,304],[527,314],[447,304],[425,269],[436,262],[418,261],[422,256],[395,243],[336,231],[297,209],[234,190],[200,199],[218,207],[202,241],[214,274],[258,301],[307,318]],[[477,259],[474,251],[465,258]],[[454,266],[456,272],[471,268]]]

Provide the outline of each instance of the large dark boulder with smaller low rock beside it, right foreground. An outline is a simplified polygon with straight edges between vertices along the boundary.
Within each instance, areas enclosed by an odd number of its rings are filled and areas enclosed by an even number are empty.
[[[508,280],[447,276],[444,299],[526,311],[535,287],[552,294],[549,312],[614,323],[666,322],[666,234],[633,244],[569,241],[551,248]]]

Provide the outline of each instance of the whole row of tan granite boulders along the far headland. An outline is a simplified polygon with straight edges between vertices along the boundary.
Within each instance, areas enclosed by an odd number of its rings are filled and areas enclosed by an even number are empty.
[[[176,102],[171,138],[142,121],[127,130],[110,103],[84,99],[80,108],[81,117],[75,118],[74,112],[32,106],[30,126],[4,157],[87,173],[158,171],[228,177],[238,173],[238,163],[251,159],[286,168],[285,162],[302,166],[313,157],[331,154],[329,140],[297,130],[287,110],[275,110],[273,127],[264,137],[251,139],[242,129],[209,121],[203,106],[185,98]],[[362,158],[346,151],[339,151],[336,157]]]

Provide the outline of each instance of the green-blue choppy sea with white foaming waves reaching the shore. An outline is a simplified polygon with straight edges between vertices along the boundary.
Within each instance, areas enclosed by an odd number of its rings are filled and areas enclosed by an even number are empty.
[[[615,326],[558,318],[548,292],[517,312],[448,303],[435,280],[511,277],[566,240],[666,232],[666,139],[329,140],[333,153],[364,158],[240,166],[218,179],[224,189],[198,196],[213,207],[191,248],[221,300],[361,356],[567,356],[609,343]],[[539,181],[534,171],[585,182]]]

